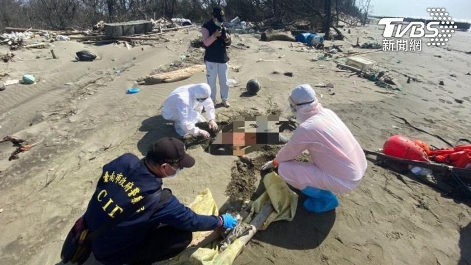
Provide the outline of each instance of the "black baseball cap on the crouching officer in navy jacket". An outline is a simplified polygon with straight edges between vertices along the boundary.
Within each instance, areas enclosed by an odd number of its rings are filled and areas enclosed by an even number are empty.
[[[173,137],[159,139],[147,152],[146,160],[157,164],[176,163],[180,167],[192,167],[195,159],[185,153],[182,141]]]

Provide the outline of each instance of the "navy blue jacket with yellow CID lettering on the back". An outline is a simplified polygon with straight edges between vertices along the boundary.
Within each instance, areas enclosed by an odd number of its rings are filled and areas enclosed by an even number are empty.
[[[133,211],[135,203],[155,193],[161,186],[162,180],[149,171],[143,160],[132,154],[114,159],[103,167],[96,191],[88,203],[85,212],[88,228],[93,231],[111,218]],[[160,224],[186,231],[209,231],[219,224],[217,216],[196,214],[174,195],[157,207],[159,199],[160,195],[96,238],[92,242],[95,258],[106,265],[126,263],[143,242],[147,231]]]

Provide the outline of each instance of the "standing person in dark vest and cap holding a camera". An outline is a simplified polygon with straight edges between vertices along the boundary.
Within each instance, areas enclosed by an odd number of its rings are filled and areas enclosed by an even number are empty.
[[[211,87],[211,99],[216,103],[216,77],[219,76],[222,105],[229,107],[229,85],[227,84],[229,57],[226,46],[231,45],[231,35],[223,26],[225,21],[224,10],[221,7],[215,7],[212,10],[212,19],[203,25],[201,33],[206,47],[206,77]]]

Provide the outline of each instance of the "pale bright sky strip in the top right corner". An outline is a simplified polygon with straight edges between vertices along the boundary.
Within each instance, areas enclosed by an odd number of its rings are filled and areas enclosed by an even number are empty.
[[[471,0],[371,0],[376,16],[428,17],[427,8],[445,8],[453,19],[471,20]]]

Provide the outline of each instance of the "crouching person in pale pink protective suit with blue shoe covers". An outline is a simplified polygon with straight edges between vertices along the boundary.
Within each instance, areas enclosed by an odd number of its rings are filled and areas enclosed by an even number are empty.
[[[366,171],[366,157],[360,144],[340,118],[318,102],[309,84],[296,87],[288,99],[299,127],[276,158],[262,166],[278,166],[279,175],[308,198],[310,212],[326,212],[339,206],[335,193],[358,186]],[[308,151],[310,162],[294,159]]]

